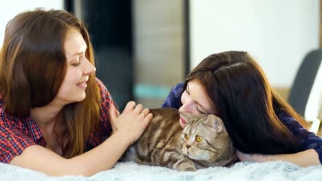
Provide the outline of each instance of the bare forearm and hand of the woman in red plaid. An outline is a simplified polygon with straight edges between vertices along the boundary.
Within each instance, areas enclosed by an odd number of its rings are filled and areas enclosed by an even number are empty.
[[[92,176],[99,171],[111,169],[127,147],[140,137],[152,119],[151,113],[147,117],[140,114],[142,109],[142,105],[136,106],[130,101],[118,117],[112,106],[111,122],[116,126],[116,132],[85,154],[65,159],[45,147],[32,145],[19,156],[15,156],[10,164],[42,171],[51,176]]]

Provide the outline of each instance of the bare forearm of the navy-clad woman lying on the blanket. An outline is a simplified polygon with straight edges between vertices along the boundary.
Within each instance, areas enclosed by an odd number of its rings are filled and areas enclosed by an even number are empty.
[[[263,154],[244,154],[237,150],[237,157],[241,161],[249,162],[268,162],[268,161],[286,161],[300,165],[301,167],[308,167],[310,165],[321,165],[319,155],[314,149],[308,149],[296,154],[277,154],[277,155],[263,155]]]

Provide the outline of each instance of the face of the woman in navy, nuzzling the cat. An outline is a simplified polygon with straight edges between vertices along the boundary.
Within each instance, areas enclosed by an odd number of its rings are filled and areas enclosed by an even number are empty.
[[[182,106],[180,112],[188,112],[190,114],[207,114],[214,113],[215,110],[211,106],[211,100],[206,95],[206,91],[200,82],[191,80],[186,86],[186,90],[181,96]],[[186,121],[180,116],[180,125],[182,128],[186,125]]]

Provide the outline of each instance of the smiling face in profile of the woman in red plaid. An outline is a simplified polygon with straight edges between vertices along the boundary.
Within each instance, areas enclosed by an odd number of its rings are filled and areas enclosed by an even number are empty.
[[[58,90],[56,99],[63,104],[83,101],[86,97],[85,89],[89,75],[96,71],[94,65],[85,57],[87,45],[80,32],[69,29],[65,40],[65,55],[67,71]]]

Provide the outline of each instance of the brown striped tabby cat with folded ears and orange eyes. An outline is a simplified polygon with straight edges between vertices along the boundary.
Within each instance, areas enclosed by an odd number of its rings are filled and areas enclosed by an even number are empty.
[[[224,123],[214,114],[179,114],[174,108],[151,109],[150,112],[153,119],[121,161],[196,171],[230,166],[237,160]],[[179,119],[187,123],[183,130]]]

